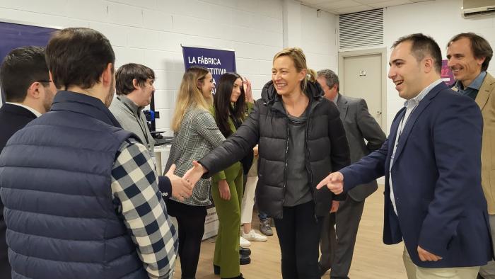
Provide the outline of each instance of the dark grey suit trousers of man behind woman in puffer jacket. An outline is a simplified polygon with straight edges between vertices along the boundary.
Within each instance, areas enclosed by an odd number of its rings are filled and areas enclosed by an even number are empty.
[[[337,213],[329,213],[322,222],[320,266],[332,268],[330,278],[348,278],[363,207],[364,200],[356,202],[347,196]]]

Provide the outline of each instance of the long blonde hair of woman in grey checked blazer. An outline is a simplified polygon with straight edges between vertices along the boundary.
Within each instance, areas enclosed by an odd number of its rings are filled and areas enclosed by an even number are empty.
[[[204,84],[204,79],[208,73],[208,69],[204,67],[192,66],[182,76],[172,118],[172,130],[174,132],[179,131],[180,123],[182,123],[182,118],[184,118],[185,111],[189,106],[209,111],[209,104],[201,91],[201,86]]]

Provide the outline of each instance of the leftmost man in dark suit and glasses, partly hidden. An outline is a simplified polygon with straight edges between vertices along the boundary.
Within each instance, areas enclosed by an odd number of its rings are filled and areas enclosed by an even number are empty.
[[[1,90],[6,103],[0,108],[0,152],[8,139],[52,106],[57,89],[50,81],[45,50],[18,47],[0,67]],[[4,204],[0,201],[0,278],[11,278],[8,264]]]

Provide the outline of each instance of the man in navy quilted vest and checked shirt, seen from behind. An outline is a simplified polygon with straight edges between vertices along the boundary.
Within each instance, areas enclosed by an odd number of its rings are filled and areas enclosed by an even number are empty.
[[[107,109],[115,91],[110,42],[67,28],[48,42],[46,57],[62,91],[0,156],[12,277],[171,278],[177,237],[153,161]],[[172,183],[185,183],[171,173]]]

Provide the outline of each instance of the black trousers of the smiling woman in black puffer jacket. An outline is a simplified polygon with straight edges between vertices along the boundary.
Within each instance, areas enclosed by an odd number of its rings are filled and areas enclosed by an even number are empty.
[[[320,278],[318,244],[322,219],[316,219],[313,201],[284,207],[284,217],[275,219],[282,254],[282,278]]]

